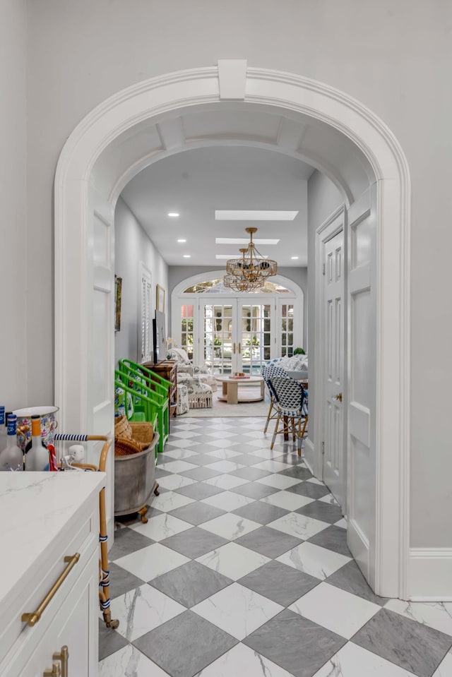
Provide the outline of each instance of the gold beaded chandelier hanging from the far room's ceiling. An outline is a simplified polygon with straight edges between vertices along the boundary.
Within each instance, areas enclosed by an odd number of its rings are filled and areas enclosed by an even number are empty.
[[[224,277],[225,287],[235,292],[250,292],[261,287],[270,275],[278,272],[278,263],[265,258],[256,249],[253,242],[253,234],[257,228],[246,228],[249,233],[249,245],[246,249],[240,249],[242,258],[231,258],[226,262],[227,275]]]

